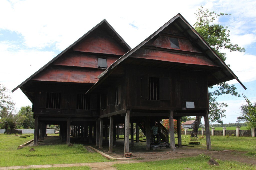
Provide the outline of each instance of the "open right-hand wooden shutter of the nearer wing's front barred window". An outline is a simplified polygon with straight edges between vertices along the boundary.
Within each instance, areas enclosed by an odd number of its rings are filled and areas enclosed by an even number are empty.
[[[160,77],[159,86],[160,100],[170,100],[170,78]]]

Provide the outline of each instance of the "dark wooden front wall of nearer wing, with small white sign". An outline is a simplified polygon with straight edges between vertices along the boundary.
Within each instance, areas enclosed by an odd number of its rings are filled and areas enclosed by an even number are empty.
[[[207,75],[182,71],[146,67],[132,67],[128,72],[127,108],[177,109],[186,108],[186,101],[195,102],[196,109],[208,108]],[[159,100],[142,99],[143,77],[159,77]]]

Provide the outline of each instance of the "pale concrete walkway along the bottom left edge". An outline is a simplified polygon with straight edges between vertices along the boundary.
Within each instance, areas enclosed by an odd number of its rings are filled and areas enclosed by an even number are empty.
[[[133,163],[136,161],[132,161]],[[94,162],[94,163],[74,163],[74,164],[52,164],[52,165],[26,165],[26,166],[6,166],[0,167],[0,170],[7,169],[28,169],[28,168],[51,168],[51,167],[71,167],[71,166],[90,166],[92,169],[100,170],[114,170],[116,168],[112,167],[116,163],[131,163],[131,161],[114,161],[114,162]]]

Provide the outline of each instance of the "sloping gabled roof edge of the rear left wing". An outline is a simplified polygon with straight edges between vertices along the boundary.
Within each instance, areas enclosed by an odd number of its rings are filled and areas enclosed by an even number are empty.
[[[40,73],[41,71],[45,70],[51,63],[53,63],[54,61],[56,61],[58,58],[60,58],[62,55],[66,54],[70,49],[72,49],[75,45],[79,44],[81,41],[83,41],[85,38],[87,38],[89,35],[91,35],[91,33],[97,29],[98,27],[100,27],[101,25],[105,24],[105,26],[108,28],[108,30],[110,31],[110,33],[117,39],[117,41],[120,42],[120,44],[122,44],[122,46],[127,50],[131,50],[131,47],[123,40],[123,38],[114,30],[114,28],[108,23],[108,21],[106,21],[105,19],[103,19],[100,23],[98,23],[95,27],[93,27],[90,31],[88,31],[86,34],[84,34],[82,37],[80,37],[76,42],[74,42],[73,44],[71,44],[68,48],[66,48],[65,50],[63,50],[60,54],[58,54],[56,57],[54,57],[51,61],[49,61],[47,64],[45,64],[45,66],[43,66],[42,68],[40,68],[37,72],[35,72],[34,74],[32,74],[30,77],[28,77],[24,82],[22,82],[20,85],[18,85],[17,87],[15,87],[12,92],[14,92],[15,90],[17,90],[18,88],[22,87],[25,83],[27,83],[30,79],[32,79],[34,76],[36,76],[38,73]]]

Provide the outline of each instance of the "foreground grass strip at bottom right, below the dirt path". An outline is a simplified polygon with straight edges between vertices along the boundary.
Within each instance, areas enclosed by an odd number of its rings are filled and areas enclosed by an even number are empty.
[[[130,163],[130,164],[114,164],[113,166],[117,169],[256,169],[253,166],[249,166],[242,163],[230,162],[230,161],[220,161],[218,163],[220,166],[208,165],[208,160],[210,158],[205,154],[200,154],[196,157],[181,158],[174,160],[163,160],[154,162],[142,162],[142,163]]]

